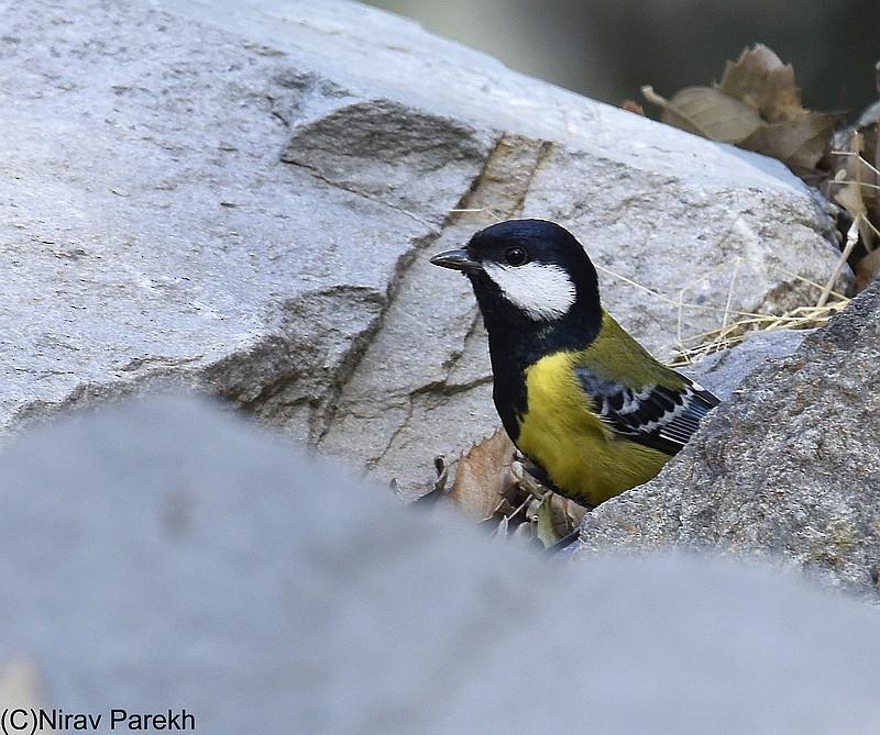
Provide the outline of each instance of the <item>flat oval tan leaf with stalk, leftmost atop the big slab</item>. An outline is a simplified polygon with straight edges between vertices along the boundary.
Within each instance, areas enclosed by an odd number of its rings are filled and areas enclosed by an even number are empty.
[[[662,108],[664,123],[711,141],[739,143],[765,124],[757,111],[711,87],[688,87],[671,100],[650,87],[641,91],[649,102]]]

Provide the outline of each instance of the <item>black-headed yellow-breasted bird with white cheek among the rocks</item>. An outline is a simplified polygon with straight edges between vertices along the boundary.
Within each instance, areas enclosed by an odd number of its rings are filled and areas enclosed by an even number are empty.
[[[499,222],[430,261],[470,279],[502,424],[538,479],[575,502],[650,480],[719,403],[605,311],[593,263],[556,222]]]

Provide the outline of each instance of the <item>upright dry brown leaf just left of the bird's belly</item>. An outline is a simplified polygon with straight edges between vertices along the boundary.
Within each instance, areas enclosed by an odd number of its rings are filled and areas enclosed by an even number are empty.
[[[510,489],[514,444],[499,428],[459,459],[449,497],[479,521],[492,516]]]

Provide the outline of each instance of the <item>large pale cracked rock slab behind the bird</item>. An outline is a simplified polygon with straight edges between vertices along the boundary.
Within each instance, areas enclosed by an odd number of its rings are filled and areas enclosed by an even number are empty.
[[[3,35],[7,433],[183,382],[418,485],[497,424],[468,285],[428,264],[477,227],[570,226],[661,294],[603,276],[660,354],[836,259],[781,165],[351,2],[8,3]]]

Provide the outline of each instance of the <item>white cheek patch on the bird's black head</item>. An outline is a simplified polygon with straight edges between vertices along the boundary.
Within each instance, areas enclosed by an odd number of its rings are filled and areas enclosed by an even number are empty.
[[[484,263],[483,267],[504,297],[534,320],[559,319],[574,303],[574,283],[559,266],[532,260],[524,266]]]

